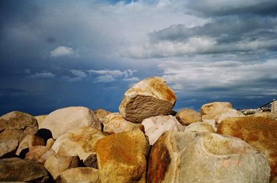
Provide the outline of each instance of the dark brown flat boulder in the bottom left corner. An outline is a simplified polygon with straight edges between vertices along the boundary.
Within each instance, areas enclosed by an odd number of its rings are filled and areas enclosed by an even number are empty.
[[[0,160],[0,182],[48,182],[47,171],[42,165],[20,158]]]

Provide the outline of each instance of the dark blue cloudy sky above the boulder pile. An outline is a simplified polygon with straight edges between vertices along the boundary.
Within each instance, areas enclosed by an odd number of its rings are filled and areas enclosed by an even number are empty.
[[[175,110],[276,99],[277,1],[0,1],[0,115],[117,112],[154,76]]]

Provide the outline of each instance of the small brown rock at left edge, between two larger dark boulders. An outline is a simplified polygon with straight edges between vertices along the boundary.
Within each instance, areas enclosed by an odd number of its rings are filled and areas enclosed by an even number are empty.
[[[12,157],[17,151],[17,146],[17,139],[0,140],[0,157]]]

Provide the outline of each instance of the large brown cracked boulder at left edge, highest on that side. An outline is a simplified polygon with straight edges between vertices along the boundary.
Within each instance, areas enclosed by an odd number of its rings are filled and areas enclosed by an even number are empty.
[[[37,119],[28,115],[14,111],[0,117],[0,139],[17,139],[19,143],[26,135],[37,133]]]

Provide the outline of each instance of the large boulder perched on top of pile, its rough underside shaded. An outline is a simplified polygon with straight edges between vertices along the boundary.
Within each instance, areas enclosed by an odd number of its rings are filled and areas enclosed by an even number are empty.
[[[141,123],[148,117],[172,113],[176,99],[174,91],[164,79],[149,77],[125,92],[118,109],[129,122]]]

